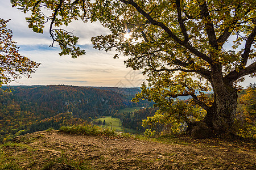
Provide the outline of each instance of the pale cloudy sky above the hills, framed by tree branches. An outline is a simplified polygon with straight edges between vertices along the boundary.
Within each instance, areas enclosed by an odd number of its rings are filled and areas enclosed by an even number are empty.
[[[112,86],[112,87],[140,87],[146,80],[141,71],[126,68],[123,61],[127,58],[113,59],[114,52],[93,49],[90,38],[97,35],[107,35],[109,30],[100,23],[73,22],[67,31],[73,31],[79,36],[79,45],[85,49],[86,54],[78,58],[59,56],[60,49],[52,44],[48,28],[44,33],[35,33],[28,28],[28,23],[20,10],[11,7],[9,0],[0,1],[0,18],[11,19],[7,27],[13,31],[13,41],[20,47],[19,53],[33,61],[41,63],[32,78],[21,78],[16,85],[49,85],[65,84],[72,86]],[[255,83],[255,78],[246,76],[245,82],[240,83],[243,87],[249,83]]]

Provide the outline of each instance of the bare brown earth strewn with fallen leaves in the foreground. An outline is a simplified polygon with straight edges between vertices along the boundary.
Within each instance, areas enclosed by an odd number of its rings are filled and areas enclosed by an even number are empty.
[[[26,155],[18,162],[23,169],[42,169],[61,156],[86,162],[88,169],[256,169],[253,142],[195,140],[188,137],[167,141],[169,143],[152,142],[122,135],[71,135],[52,130],[15,138],[15,142],[28,147],[9,146],[1,150],[15,158]],[[49,169],[74,167],[56,163]]]

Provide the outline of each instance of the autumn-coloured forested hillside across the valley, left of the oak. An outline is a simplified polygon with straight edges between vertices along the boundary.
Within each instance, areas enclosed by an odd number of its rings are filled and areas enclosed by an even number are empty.
[[[137,88],[59,85],[12,89],[0,90],[0,141],[32,131],[85,123],[95,116],[112,116],[117,109],[147,105],[147,101],[131,102],[139,92]]]

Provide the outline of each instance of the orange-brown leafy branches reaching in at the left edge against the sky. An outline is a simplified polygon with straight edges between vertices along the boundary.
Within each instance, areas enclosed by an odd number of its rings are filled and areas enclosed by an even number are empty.
[[[19,54],[16,42],[12,40],[13,33],[7,28],[8,22],[0,18],[0,87],[19,79],[21,75],[30,78],[30,74],[40,65]]]

